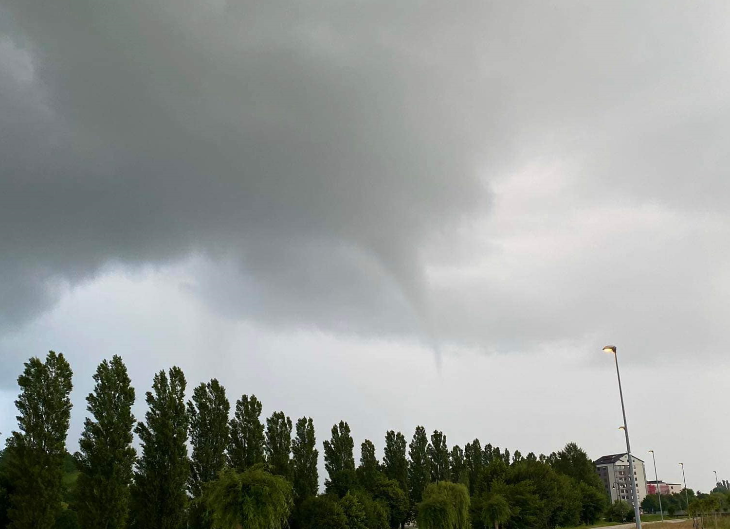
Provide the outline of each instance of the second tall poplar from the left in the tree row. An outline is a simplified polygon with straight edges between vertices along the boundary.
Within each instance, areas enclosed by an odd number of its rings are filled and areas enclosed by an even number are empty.
[[[118,355],[104,360],[86,397],[86,417],[76,460],[76,510],[82,528],[123,529],[129,514],[129,484],[137,456],[132,448],[134,387]]]

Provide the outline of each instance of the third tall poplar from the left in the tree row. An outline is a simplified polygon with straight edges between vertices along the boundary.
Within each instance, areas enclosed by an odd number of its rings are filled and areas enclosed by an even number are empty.
[[[169,374],[155,374],[153,391],[145,399],[149,407],[145,422],[138,422],[134,429],[142,445],[132,489],[136,528],[185,527],[190,476],[185,385],[185,375],[177,366]]]

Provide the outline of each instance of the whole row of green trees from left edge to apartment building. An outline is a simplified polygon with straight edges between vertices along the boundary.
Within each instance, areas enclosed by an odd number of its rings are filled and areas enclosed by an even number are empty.
[[[74,493],[63,495],[72,370],[63,355],[31,358],[18,377],[18,431],[0,469],[0,522],[12,529],[423,529],[555,528],[595,522],[607,506],[593,463],[568,444],[523,456],[478,439],[449,447],[418,426],[412,439],[385,433],[384,457],[360,447],[345,421],[323,441],[319,494],[310,417],[274,412],[264,422],[254,395],[231,406],[218,380],[185,401],[183,371],[155,374],[145,420],[118,356],[93,376],[88,417],[74,454]],[[139,438],[139,454],[132,446]],[[189,446],[188,446],[189,442]]]

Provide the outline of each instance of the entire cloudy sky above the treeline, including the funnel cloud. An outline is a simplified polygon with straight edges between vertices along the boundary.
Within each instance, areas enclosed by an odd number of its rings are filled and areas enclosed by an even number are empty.
[[[23,361],[730,479],[730,4],[0,0],[0,432]],[[647,468],[650,479],[653,469]],[[323,471],[323,470],[322,470]]]

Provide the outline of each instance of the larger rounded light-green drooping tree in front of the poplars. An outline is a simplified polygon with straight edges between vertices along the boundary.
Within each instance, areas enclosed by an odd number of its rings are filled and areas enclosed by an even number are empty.
[[[291,483],[258,467],[226,468],[204,493],[215,529],[281,529],[293,505]]]

